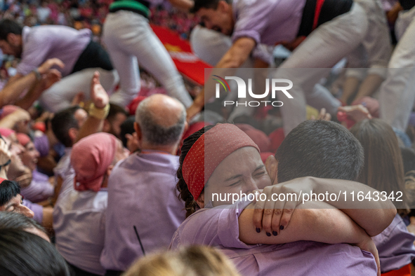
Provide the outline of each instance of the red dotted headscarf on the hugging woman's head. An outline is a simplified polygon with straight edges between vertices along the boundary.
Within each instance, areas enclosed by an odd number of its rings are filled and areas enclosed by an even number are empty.
[[[197,139],[182,166],[183,179],[195,200],[220,162],[244,146],[253,146],[261,153],[245,132],[228,123],[215,125]]]

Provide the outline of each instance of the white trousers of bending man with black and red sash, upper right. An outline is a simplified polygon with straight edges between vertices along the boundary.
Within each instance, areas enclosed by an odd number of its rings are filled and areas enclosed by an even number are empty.
[[[362,43],[368,31],[367,14],[354,3],[348,13],[317,27],[292,55],[279,67],[274,78],[287,78],[294,86],[289,90],[293,99],[277,93],[284,103],[281,107],[284,133],[306,119],[305,104],[324,106],[329,113],[336,113],[340,102],[315,84],[326,76],[343,57]]]

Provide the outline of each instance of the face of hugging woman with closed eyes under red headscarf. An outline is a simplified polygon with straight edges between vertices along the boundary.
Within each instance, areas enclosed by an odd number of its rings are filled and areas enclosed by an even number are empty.
[[[237,195],[270,185],[260,154],[246,146],[231,153],[216,167],[204,188],[204,202],[212,201],[213,207],[230,205],[237,200]]]

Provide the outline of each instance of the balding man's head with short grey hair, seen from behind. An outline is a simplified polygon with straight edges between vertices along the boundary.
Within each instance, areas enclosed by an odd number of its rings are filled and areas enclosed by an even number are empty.
[[[185,106],[172,97],[156,94],[140,102],[136,110],[143,141],[153,146],[180,142],[186,123]]]

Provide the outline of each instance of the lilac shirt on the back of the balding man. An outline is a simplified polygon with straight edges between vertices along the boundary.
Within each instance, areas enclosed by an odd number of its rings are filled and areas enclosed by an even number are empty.
[[[185,219],[184,203],[176,192],[178,156],[134,153],[118,163],[108,180],[105,246],[101,264],[107,270],[126,270],[145,253],[167,249]]]

